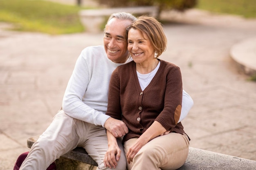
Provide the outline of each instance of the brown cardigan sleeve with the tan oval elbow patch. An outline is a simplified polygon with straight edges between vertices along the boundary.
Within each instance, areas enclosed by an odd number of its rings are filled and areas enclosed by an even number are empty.
[[[172,130],[177,125],[181,114],[182,75],[179,67],[169,65],[167,67],[164,109],[155,121],[162,124],[166,130]]]

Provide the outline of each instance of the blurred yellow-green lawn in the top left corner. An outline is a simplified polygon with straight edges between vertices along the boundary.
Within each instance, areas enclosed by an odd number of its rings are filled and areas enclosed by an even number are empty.
[[[0,0],[0,22],[14,23],[14,30],[65,34],[83,32],[81,7],[43,0]]]

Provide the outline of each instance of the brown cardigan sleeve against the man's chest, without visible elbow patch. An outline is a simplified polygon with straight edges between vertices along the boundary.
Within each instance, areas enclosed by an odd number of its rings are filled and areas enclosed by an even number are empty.
[[[113,71],[108,91],[108,110],[106,115],[121,120],[121,104],[120,104],[120,79],[118,67]]]

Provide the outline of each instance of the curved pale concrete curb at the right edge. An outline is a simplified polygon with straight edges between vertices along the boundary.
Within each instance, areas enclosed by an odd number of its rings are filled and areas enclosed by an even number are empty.
[[[230,55],[240,71],[247,75],[256,74],[256,37],[232,46]]]

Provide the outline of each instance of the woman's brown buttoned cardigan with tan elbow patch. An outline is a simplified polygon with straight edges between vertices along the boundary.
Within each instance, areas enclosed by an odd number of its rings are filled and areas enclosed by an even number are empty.
[[[154,121],[166,130],[184,133],[182,124],[177,124],[182,105],[180,68],[160,61],[156,75],[144,91],[140,88],[134,61],[118,66],[112,73],[106,115],[128,126],[123,142],[139,137]]]

